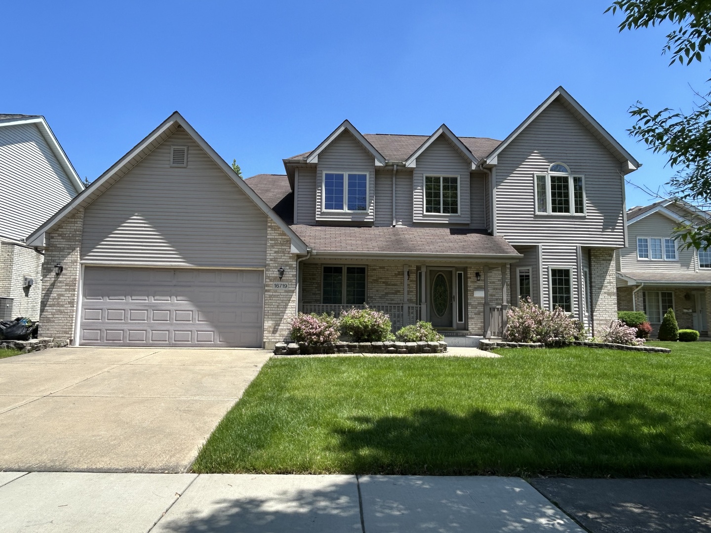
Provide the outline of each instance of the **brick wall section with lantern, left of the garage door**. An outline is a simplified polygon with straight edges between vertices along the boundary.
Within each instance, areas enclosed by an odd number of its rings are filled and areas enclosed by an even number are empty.
[[[74,340],[84,210],[68,217],[49,236],[42,266],[41,337]],[[61,264],[61,274],[54,265]]]

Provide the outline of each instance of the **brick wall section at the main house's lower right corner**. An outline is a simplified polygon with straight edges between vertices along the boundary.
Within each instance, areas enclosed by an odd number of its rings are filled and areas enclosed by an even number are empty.
[[[592,303],[595,335],[617,318],[617,286],[614,250],[590,250],[590,300]]]

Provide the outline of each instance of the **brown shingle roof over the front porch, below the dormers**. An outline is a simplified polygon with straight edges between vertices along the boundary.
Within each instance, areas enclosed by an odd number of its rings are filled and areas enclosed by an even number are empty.
[[[517,256],[503,237],[466,227],[351,227],[292,225],[316,252]]]

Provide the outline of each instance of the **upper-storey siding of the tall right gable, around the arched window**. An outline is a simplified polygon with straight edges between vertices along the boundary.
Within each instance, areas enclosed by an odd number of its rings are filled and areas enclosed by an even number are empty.
[[[534,215],[534,174],[556,161],[585,177],[587,216]],[[558,102],[498,155],[496,232],[511,244],[624,246],[621,163]]]

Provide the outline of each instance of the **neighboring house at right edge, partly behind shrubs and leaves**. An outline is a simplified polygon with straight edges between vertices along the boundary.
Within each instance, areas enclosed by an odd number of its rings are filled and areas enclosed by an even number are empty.
[[[711,249],[688,249],[674,238],[674,228],[681,222],[693,224],[708,217],[671,200],[627,212],[629,246],[616,255],[617,306],[620,311],[644,311],[653,335],[668,308],[673,308],[679,328],[708,335]]]

